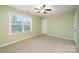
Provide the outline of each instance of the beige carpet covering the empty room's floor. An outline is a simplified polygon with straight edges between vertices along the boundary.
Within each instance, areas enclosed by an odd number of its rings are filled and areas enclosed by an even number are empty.
[[[76,53],[72,40],[39,35],[21,42],[2,47],[3,53]]]

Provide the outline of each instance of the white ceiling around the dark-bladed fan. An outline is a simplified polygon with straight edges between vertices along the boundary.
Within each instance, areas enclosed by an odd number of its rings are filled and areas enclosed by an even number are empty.
[[[48,11],[46,14],[44,14],[44,13],[38,14],[37,13],[38,10],[35,10],[34,8],[38,7],[38,5],[11,5],[10,7],[24,11],[24,12],[29,13],[31,15],[36,15],[36,16],[41,16],[41,17],[57,15],[57,14],[65,13],[65,12],[73,12],[76,7],[74,5],[47,5],[47,6],[49,8],[51,8],[52,11],[51,12]]]

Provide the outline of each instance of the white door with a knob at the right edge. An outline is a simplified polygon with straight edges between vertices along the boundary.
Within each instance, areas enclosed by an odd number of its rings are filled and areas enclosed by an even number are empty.
[[[76,43],[76,47],[79,48],[79,12],[75,13],[74,20],[74,41]]]

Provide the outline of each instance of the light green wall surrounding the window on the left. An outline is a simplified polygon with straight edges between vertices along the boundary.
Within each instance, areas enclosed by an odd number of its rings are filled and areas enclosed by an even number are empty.
[[[0,6],[0,45],[16,41],[19,39],[27,38],[32,35],[37,35],[40,33],[41,20],[39,17],[32,17],[32,32],[30,33],[20,33],[16,35],[9,35],[9,12],[15,12],[22,15],[26,15],[24,12],[7,7]],[[27,15],[26,15],[27,16]]]

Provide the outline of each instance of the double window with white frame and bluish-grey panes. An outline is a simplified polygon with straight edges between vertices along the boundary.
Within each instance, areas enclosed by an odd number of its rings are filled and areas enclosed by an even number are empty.
[[[31,17],[15,14],[10,16],[10,34],[32,31]]]

